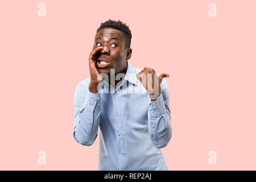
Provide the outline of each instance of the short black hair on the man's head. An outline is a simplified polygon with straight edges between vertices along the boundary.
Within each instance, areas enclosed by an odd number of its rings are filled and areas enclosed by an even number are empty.
[[[101,23],[101,26],[98,27],[97,34],[98,34],[98,31],[100,31],[102,28],[114,28],[114,29],[117,29],[117,30],[123,32],[123,35],[125,36],[125,46],[126,46],[126,48],[130,48],[130,46],[131,46],[131,31],[130,31],[129,26],[127,26],[125,23],[121,22],[120,20],[115,21],[115,20],[109,19],[106,22]]]

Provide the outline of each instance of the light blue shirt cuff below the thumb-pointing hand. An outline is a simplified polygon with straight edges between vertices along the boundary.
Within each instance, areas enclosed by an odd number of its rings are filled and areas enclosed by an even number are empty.
[[[159,95],[157,100],[150,102],[148,110],[152,118],[158,118],[160,115],[164,114],[164,111],[166,111],[166,107],[164,105],[162,93]]]

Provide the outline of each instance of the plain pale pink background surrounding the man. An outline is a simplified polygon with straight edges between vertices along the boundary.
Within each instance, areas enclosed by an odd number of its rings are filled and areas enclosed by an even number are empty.
[[[98,138],[90,147],[73,139],[73,96],[109,18],[130,26],[132,65],[170,73],[169,169],[255,170],[254,0],[1,0],[0,169],[97,170]],[[38,164],[41,150],[46,165]]]

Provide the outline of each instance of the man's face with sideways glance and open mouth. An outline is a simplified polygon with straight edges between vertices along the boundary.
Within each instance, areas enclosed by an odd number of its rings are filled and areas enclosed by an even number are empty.
[[[123,32],[114,28],[102,28],[94,39],[93,49],[103,47],[96,56],[96,67],[100,73],[110,75],[110,69],[115,74],[127,67],[125,38]]]

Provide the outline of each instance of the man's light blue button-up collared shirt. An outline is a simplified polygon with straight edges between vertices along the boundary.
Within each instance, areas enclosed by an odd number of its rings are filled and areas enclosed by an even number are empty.
[[[160,96],[151,101],[136,77],[141,69],[127,63],[125,78],[117,89],[104,80],[99,92],[91,93],[90,77],[77,85],[73,137],[90,146],[100,126],[99,170],[168,170],[160,149],[172,136],[167,82],[163,78]]]

